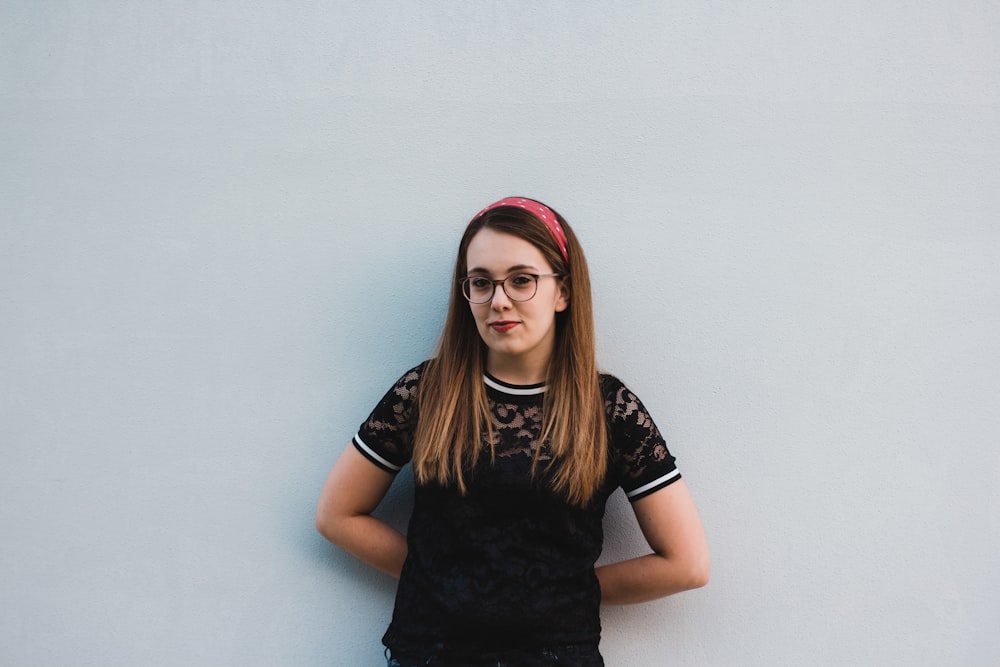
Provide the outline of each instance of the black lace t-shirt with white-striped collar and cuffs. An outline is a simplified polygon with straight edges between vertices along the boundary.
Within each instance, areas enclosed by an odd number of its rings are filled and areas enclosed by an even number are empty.
[[[354,445],[392,473],[409,460],[411,418],[423,365],[408,371],[361,425]],[[608,497],[636,500],[680,479],[674,457],[639,399],[601,376],[610,434],[608,472],[586,508],[531,474],[541,430],[543,385],[484,377],[493,415],[495,461],[487,452],[465,495],[417,485],[408,553],[383,643],[394,654],[481,655],[600,641],[601,553]],[[485,445],[484,445],[485,446]],[[545,459],[543,449],[542,460]]]

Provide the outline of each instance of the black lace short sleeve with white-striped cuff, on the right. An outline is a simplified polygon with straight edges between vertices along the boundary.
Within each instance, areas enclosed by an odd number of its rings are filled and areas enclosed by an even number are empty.
[[[613,376],[601,376],[612,472],[629,501],[681,478],[660,430],[639,397]]]

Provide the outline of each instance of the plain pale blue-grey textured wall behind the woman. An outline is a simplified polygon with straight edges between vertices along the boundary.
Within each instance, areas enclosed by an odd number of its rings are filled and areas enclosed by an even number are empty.
[[[380,664],[392,582],[316,495],[511,193],[578,230],[713,549],[605,610],[609,665],[997,664],[998,34],[943,0],[3,2],[0,664]]]

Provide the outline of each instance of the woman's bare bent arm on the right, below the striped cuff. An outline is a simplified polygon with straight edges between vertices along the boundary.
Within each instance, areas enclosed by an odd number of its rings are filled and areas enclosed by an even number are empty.
[[[632,503],[653,553],[597,568],[601,604],[630,604],[708,583],[705,531],[684,480]]]

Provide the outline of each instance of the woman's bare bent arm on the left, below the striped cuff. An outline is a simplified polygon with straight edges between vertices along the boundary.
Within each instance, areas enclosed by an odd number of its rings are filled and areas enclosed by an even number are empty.
[[[320,493],[316,530],[349,554],[398,579],[406,560],[406,538],[371,516],[393,478],[348,444]]]

